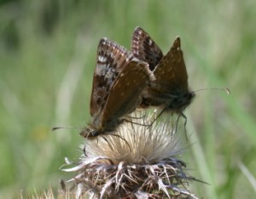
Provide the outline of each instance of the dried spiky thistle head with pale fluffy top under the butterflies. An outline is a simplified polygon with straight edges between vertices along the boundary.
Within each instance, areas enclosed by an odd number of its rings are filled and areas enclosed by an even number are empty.
[[[178,159],[184,134],[173,134],[169,119],[148,127],[150,118],[142,114],[111,134],[87,140],[79,164],[63,169],[77,172],[71,181],[78,197],[196,198],[187,188],[195,178]]]

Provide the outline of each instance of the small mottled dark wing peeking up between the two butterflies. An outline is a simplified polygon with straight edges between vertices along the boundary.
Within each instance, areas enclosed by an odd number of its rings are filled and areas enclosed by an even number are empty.
[[[163,57],[161,49],[154,40],[142,28],[137,27],[133,33],[131,41],[131,50],[138,60],[148,63],[150,71],[154,71],[155,65],[158,65]]]

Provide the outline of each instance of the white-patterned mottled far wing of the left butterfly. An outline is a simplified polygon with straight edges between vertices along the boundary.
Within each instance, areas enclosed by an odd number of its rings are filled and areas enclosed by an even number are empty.
[[[132,54],[118,43],[102,38],[96,54],[92,91],[90,96],[90,116],[96,117],[108,99],[109,90],[124,65],[132,59]]]

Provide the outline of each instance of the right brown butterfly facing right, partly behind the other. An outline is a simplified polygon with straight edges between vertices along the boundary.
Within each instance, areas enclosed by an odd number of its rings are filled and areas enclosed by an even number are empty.
[[[155,78],[143,91],[140,107],[161,106],[163,111],[175,112],[186,120],[183,110],[194,99],[195,93],[189,91],[180,38],[177,37],[169,52],[163,55],[148,33],[137,27],[132,36],[131,49],[138,60],[148,63]]]

